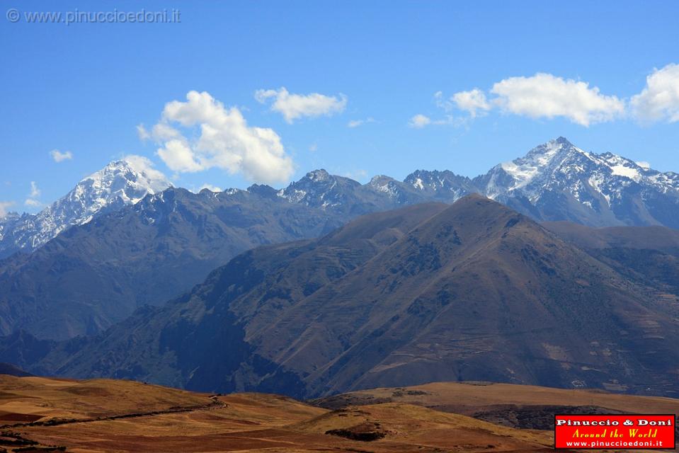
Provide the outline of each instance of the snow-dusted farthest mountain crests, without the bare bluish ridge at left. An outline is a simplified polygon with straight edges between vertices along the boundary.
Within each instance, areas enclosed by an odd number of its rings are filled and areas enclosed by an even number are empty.
[[[170,186],[161,172],[139,157],[111,162],[39,214],[11,213],[0,219],[0,258],[18,250],[32,251],[69,226],[134,205]],[[645,162],[610,152],[583,151],[564,137],[473,179],[452,171],[418,170],[402,182],[375,176],[362,185],[316,170],[285,189],[253,185],[248,191],[291,204],[359,214],[423,201],[454,202],[469,193],[481,193],[538,220],[570,220],[589,226],[679,226],[675,215],[679,174],[661,173]],[[224,193],[239,192],[229,189]]]

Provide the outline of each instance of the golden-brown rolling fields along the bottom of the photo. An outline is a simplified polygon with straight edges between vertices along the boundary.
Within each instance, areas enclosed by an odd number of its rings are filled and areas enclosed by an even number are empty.
[[[506,384],[436,383],[312,403],[2,375],[0,452],[549,452],[551,428],[520,428],[531,417],[544,423],[554,406],[679,411],[671,398]]]

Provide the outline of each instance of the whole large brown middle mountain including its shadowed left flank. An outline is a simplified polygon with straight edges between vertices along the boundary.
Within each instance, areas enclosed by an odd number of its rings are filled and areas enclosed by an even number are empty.
[[[673,395],[666,296],[470,195],[249,251],[166,306],[19,365],[302,397],[435,380]]]

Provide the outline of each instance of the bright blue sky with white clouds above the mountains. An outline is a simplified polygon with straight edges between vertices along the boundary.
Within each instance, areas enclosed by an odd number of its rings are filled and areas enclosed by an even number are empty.
[[[25,16],[142,8],[176,8],[181,22]],[[314,168],[362,182],[418,168],[476,176],[563,135],[679,171],[675,1],[12,0],[0,13],[0,202],[10,210],[40,209],[25,205],[31,181],[45,205],[128,154],[187,188],[281,187]],[[356,120],[367,121],[348,127]],[[156,124],[173,132],[154,134]],[[201,137],[201,127],[217,132]],[[55,149],[72,159],[55,162]]]

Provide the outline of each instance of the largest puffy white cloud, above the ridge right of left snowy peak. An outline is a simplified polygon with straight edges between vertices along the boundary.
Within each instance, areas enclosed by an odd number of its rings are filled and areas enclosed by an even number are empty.
[[[188,138],[180,127],[197,131]],[[186,102],[167,103],[149,135],[161,144],[158,156],[178,173],[222,168],[256,182],[276,183],[294,172],[276,132],[249,126],[238,108],[224,107],[205,91],[189,91]]]

